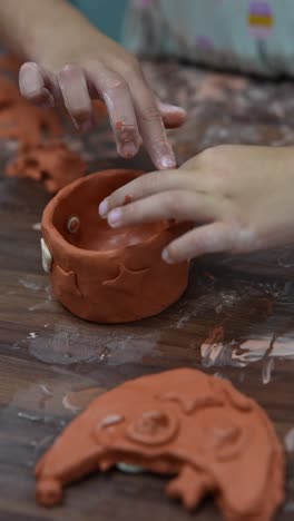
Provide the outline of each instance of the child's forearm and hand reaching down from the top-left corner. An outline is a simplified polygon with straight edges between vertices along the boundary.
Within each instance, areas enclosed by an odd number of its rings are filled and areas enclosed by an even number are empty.
[[[66,0],[1,0],[0,37],[30,60],[20,70],[26,98],[65,102],[77,127],[87,130],[91,98],[101,97],[121,156],[135,156],[143,140],[158,169],[175,166],[164,122],[180,125],[185,111],[158,102],[136,58]]]

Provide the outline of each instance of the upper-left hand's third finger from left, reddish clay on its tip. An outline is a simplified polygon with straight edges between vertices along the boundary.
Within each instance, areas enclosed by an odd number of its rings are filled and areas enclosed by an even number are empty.
[[[107,106],[118,153],[126,158],[134,157],[141,137],[128,83],[101,65],[91,71],[90,79]]]

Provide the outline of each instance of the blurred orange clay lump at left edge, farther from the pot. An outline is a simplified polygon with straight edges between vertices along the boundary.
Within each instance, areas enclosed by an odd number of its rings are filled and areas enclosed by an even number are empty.
[[[33,106],[20,96],[13,81],[0,77],[0,138],[36,146],[43,136],[58,138],[62,134],[60,119],[53,109]]]

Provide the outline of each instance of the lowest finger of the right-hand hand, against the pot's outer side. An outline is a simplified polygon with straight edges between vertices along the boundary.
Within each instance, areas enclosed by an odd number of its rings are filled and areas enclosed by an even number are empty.
[[[236,226],[226,223],[193,228],[164,249],[163,259],[175,264],[200,255],[232,252],[237,247],[238,233]]]

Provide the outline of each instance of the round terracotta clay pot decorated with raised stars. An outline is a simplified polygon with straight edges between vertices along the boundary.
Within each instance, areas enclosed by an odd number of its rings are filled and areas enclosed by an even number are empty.
[[[42,218],[42,263],[53,293],[75,315],[129,322],[160,313],[187,286],[188,263],[161,252],[187,225],[160,222],[110,228],[99,203],[143,173],[105,170],[78,179],[49,203]]]

